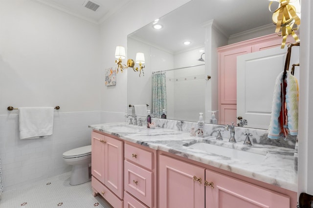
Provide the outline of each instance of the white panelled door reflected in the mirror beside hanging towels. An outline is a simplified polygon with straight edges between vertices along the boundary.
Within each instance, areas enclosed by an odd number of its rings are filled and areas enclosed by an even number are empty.
[[[286,52],[287,47],[276,47],[237,57],[237,116],[248,121],[246,127],[268,129],[276,77],[284,69]],[[299,47],[292,48],[291,55],[291,65],[299,63]]]

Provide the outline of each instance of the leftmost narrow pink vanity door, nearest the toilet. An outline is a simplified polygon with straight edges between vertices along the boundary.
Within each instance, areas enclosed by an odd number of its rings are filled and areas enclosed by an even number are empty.
[[[104,183],[104,135],[91,132],[91,174]]]

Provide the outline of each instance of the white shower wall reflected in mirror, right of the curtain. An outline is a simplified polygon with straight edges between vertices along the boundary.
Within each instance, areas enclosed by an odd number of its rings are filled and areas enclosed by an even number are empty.
[[[203,37],[204,38],[204,37]],[[204,46],[190,51],[181,52],[174,56],[174,68],[201,65],[198,61]],[[205,54],[202,56],[205,60]],[[174,85],[174,117],[177,120],[198,121],[199,113],[205,111],[205,66],[178,69],[173,71],[172,83]],[[170,116],[170,114],[168,113]]]

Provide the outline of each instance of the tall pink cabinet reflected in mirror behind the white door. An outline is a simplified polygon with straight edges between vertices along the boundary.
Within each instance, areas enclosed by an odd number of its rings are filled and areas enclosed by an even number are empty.
[[[286,46],[294,42],[288,37]],[[277,34],[253,38],[218,48],[219,120],[220,124],[237,122],[237,56],[278,47],[282,37]]]

